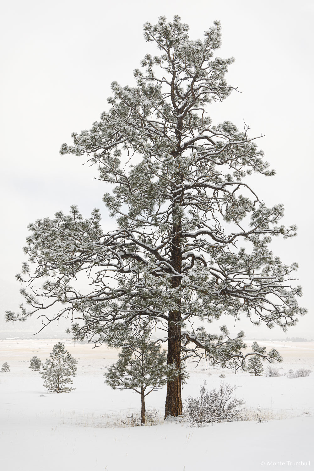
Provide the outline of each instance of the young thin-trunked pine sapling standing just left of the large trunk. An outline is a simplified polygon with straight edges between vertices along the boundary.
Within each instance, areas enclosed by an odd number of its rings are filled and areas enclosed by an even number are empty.
[[[153,390],[162,388],[177,376],[175,365],[167,365],[167,353],[158,341],[150,339],[152,328],[148,323],[140,327],[135,336],[125,333],[124,347],[119,359],[104,374],[105,383],[113,389],[132,389],[141,395],[141,423],[145,423],[145,397]],[[110,347],[119,347],[116,335],[108,339]]]

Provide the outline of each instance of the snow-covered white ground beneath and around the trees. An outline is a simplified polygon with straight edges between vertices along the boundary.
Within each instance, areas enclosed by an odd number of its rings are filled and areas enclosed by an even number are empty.
[[[255,471],[270,467],[313,469],[314,372],[306,378],[252,377],[205,364],[189,365],[190,378],[183,398],[197,395],[205,380],[208,388],[221,381],[238,386],[248,410],[260,406],[268,422],[218,423],[190,428],[184,422],[147,427],[118,427],[139,410],[139,395],[113,391],[103,373],[117,354],[104,347],[65,341],[79,359],[74,378],[77,389],[50,394],[38,373],[28,369],[29,359],[48,357],[54,340],[0,341],[0,468],[5,471],[103,470],[103,471]],[[273,342],[260,342],[274,346]],[[284,357],[277,365],[284,374],[290,368],[314,371],[314,343],[277,342]],[[164,407],[165,391],[147,397],[148,407]],[[108,426],[115,423],[116,426]],[[293,465],[293,463],[307,463]],[[310,462],[310,464],[308,464]],[[284,463],[284,464],[283,464]]]

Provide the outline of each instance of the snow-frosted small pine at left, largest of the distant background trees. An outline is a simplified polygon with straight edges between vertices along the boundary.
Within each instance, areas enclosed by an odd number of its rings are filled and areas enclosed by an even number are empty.
[[[64,343],[58,342],[43,365],[42,379],[48,391],[60,393],[70,392],[75,388],[68,388],[66,384],[72,384],[71,376],[75,376],[77,359],[64,348]]]

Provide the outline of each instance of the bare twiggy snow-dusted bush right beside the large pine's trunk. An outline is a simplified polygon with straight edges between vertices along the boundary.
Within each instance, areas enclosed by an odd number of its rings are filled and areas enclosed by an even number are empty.
[[[241,409],[244,402],[233,396],[236,387],[220,383],[218,390],[206,390],[206,382],[201,386],[200,396],[189,396],[185,401],[184,415],[193,427],[202,427],[210,422],[237,422],[242,420]]]

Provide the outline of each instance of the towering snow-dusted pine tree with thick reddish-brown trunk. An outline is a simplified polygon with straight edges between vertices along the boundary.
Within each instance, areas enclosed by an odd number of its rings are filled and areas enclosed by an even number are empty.
[[[31,309],[7,311],[6,318],[46,318],[59,304],[47,322],[71,316],[74,338],[99,342],[116,323],[136,331],[147,318],[168,331],[168,364],[178,371],[191,355],[242,364],[244,333],[231,336],[224,326],[208,333],[206,322],[226,314],[270,328],[295,325],[306,312],[296,299],[301,287],[291,287],[297,264],[284,265],[268,244],[272,236],[292,237],[296,227],[282,226],[282,204],[267,207],[249,185],[251,173],[274,171],[248,127],[215,125],[209,116],[210,104],[233,89],[225,80],[233,58],[214,57],[219,22],[192,40],[178,16],[169,23],[160,17],[144,25],[144,35],[160,53],[146,54],[134,85],[113,82],[100,121],[61,147],[61,154],[85,156],[113,186],[104,202],[116,229],[105,232],[99,210],[83,219],[76,206],[30,224],[31,264],[17,278],[36,285],[22,290]],[[256,342],[252,350],[280,359]],[[178,375],[167,384],[165,415],[181,413]]]

